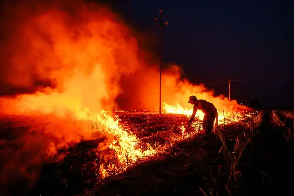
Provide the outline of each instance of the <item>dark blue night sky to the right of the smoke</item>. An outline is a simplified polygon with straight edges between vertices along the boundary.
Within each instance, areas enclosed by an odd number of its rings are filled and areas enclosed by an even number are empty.
[[[191,82],[228,96],[228,82],[212,84],[229,77],[256,79],[232,82],[231,98],[294,105],[293,1],[125,2],[113,3],[113,10],[145,34],[154,49],[159,34],[153,18],[163,8],[163,21],[169,21],[163,30],[163,61],[181,64]]]

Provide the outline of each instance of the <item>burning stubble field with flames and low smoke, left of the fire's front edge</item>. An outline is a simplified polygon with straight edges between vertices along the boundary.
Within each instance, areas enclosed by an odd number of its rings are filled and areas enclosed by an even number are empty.
[[[74,194],[81,188],[116,178],[142,163],[162,160],[167,155],[175,157],[173,150],[178,149],[178,144],[200,138],[203,131],[199,129],[201,115],[196,117],[191,134],[184,135],[184,124],[188,120],[185,114],[115,114],[111,117],[102,112],[95,117],[97,120],[72,121],[62,117],[50,121],[54,116],[41,114],[1,117],[5,158],[1,179],[15,178],[12,182],[19,183],[23,178],[41,195],[60,194],[59,188]],[[228,115],[225,122],[220,114],[219,124],[236,124],[248,117],[250,114],[235,113]],[[71,132],[67,140],[59,133],[64,128]],[[79,134],[81,130],[83,135]],[[39,181],[37,185],[35,180]],[[49,185],[56,187],[53,192],[46,188]]]

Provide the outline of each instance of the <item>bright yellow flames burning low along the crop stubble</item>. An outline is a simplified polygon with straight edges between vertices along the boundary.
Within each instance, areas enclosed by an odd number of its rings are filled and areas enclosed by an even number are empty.
[[[175,106],[171,106],[168,104],[165,104],[165,108],[169,108],[170,111],[172,108],[177,108],[178,110],[173,111],[173,113],[180,113],[184,114],[184,116],[188,116],[189,112],[191,114],[191,110],[182,110],[182,112],[179,111],[179,108],[181,106],[179,104]],[[171,113],[171,112],[169,112]],[[228,113],[227,113],[228,114]],[[227,124],[238,122],[240,120],[244,120],[245,117],[250,116],[250,114],[243,114],[242,112],[234,112],[232,114],[229,114],[227,117],[220,120],[220,122],[225,123],[225,120],[227,121]],[[117,172],[123,172],[126,168],[131,167],[134,165],[137,160],[144,160],[144,158],[155,155],[157,153],[164,152],[165,149],[172,147],[177,140],[183,140],[187,139],[188,136],[185,136],[182,134],[184,125],[181,125],[181,127],[176,127],[177,129],[181,129],[182,131],[175,135],[173,138],[172,131],[167,134],[169,137],[169,143],[165,144],[157,144],[151,143],[154,141],[150,141],[150,143],[145,144],[144,146],[146,150],[142,149],[142,141],[141,139],[138,139],[136,135],[133,134],[131,128],[134,128],[131,126],[131,124],[125,124],[124,126],[121,125],[121,119],[118,118],[118,116],[115,116],[112,118],[111,116],[108,116],[106,112],[102,111],[100,114],[93,115],[90,111],[85,109],[83,112],[78,112],[77,118],[79,120],[92,120],[94,122],[101,123],[105,128],[99,129],[101,132],[113,134],[115,136],[115,140],[110,142],[108,144],[108,147],[110,149],[113,149],[115,151],[115,155],[117,156],[118,163],[113,164],[111,163],[111,160],[108,160],[108,162],[100,163],[100,173],[101,177],[105,178],[108,174],[114,174]],[[151,117],[152,118],[152,117]],[[198,113],[198,117],[196,122],[201,122],[203,119],[203,116],[201,116],[201,113]],[[158,120],[158,119],[157,119]],[[148,121],[148,120],[147,120]],[[157,122],[159,123],[159,122]],[[182,122],[183,124],[183,122]],[[125,128],[130,127],[130,129]],[[174,128],[174,125],[171,129]],[[135,131],[135,130],[133,130]],[[198,129],[195,132],[199,132],[200,129]],[[190,135],[191,136],[191,135]],[[114,160],[112,160],[113,162]],[[115,170],[116,172],[113,172]]]

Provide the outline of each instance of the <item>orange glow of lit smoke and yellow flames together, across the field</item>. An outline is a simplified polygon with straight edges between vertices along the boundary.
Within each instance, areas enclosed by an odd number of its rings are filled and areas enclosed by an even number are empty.
[[[63,6],[68,11],[64,11]],[[58,149],[69,142],[80,141],[77,135],[93,138],[93,130],[77,129],[72,122],[100,123],[98,131],[108,137],[105,146],[115,151],[120,164],[100,165],[98,173],[102,178],[110,170],[123,171],[136,160],[154,155],[156,150],[150,144],[147,149],[141,149],[132,130],[122,127],[120,119],[111,112],[123,105],[128,109],[158,108],[157,68],[139,57],[137,39],[130,30],[118,16],[102,6],[77,3],[34,4],[33,7],[35,15],[30,15],[28,6],[12,12],[14,18],[19,19],[12,32],[18,33],[11,33],[7,41],[11,66],[6,68],[3,78],[12,87],[35,89],[37,81],[50,81],[52,85],[39,85],[32,94],[0,98],[2,113],[50,116],[53,123],[46,127],[46,134],[59,140],[47,141],[43,149],[47,157],[54,157]],[[229,102],[223,96],[214,97],[203,85],[193,85],[180,76],[176,65],[163,73],[162,101],[166,112],[191,115],[191,105],[187,104],[190,95],[212,102],[219,110],[219,122],[223,119],[223,110],[231,122],[236,122],[244,115],[242,111],[248,110],[235,100]],[[121,94],[130,100],[128,104],[117,104],[116,98]],[[201,119],[203,113],[198,111],[196,116]],[[72,124],[55,123],[60,119]]]

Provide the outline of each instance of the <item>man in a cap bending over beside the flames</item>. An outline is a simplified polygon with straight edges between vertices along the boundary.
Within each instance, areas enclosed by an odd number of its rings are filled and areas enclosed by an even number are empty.
[[[218,111],[216,107],[214,107],[212,103],[209,103],[203,99],[197,99],[197,97],[195,97],[194,95],[189,97],[188,103],[191,103],[193,105],[193,113],[188,122],[186,131],[191,126],[195,118],[195,114],[197,110],[200,109],[205,114],[203,118],[203,122],[202,122],[202,127],[205,131],[205,134],[210,135],[213,129],[213,124],[215,119],[216,119],[216,128],[218,127]]]

